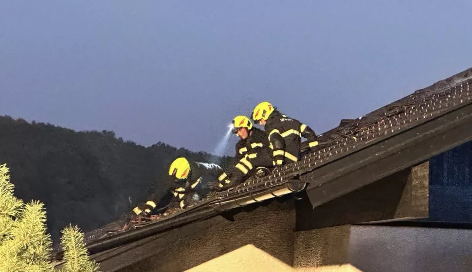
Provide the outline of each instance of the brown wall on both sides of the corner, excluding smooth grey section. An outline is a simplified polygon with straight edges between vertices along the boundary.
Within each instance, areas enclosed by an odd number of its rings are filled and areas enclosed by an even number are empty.
[[[347,264],[349,227],[296,233],[294,201],[272,200],[234,215],[233,222],[216,217],[183,226],[97,261],[103,271],[121,272],[359,271]],[[142,260],[126,265],[135,258]]]

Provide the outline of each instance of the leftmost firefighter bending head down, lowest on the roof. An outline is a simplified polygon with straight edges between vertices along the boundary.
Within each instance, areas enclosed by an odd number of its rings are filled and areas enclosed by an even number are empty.
[[[194,204],[210,192],[210,181],[216,181],[223,174],[223,169],[215,163],[188,162],[181,157],[172,162],[169,175],[175,179],[176,187],[172,191],[174,203],[181,209]]]

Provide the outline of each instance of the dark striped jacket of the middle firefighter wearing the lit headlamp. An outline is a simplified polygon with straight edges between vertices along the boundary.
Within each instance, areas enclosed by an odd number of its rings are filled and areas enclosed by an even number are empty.
[[[253,127],[246,139],[236,144],[234,167],[218,177],[219,187],[232,187],[239,184],[245,177],[254,173],[257,167],[272,167],[272,149],[269,147],[268,135],[263,130]]]

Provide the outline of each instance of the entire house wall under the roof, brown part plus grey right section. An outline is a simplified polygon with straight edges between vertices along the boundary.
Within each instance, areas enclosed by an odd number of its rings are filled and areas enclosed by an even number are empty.
[[[344,225],[293,232],[293,206],[272,201],[234,222],[211,218],[95,259],[104,272],[472,271],[472,230]]]

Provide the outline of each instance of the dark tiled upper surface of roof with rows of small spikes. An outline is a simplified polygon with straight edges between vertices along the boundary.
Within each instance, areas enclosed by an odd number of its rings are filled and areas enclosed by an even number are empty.
[[[346,157],[353,152],[374,145],[409,128],[416,127],[453,109],[468,105],[472,102],[471,98],[472,68],[436,82],[427,88],[415,91],[360,118],[341,120],[338,127],[319,135],[320,145],[318,151],[314,153],[307,152],[299,162],[277,168],[270,175],[261,179],[250,178],[236,188],[220,192],[194,207],[147,224],[149,226],[163,225],[168,221],[169,226],[176,226],[177,223],[175,222],[184,221],[180,219],[184,214],[188,217],[194,213],[194,219],[203,216],[203,214],[217,214],[218,212],[209,207],[218,206],[218,203],[222,201],[253,195],[257,192],[270,192],[271,188],[293,181],[299,175],[312,172],[327,163]],[[306,148],[306,145],[304,148]],[[113,239],[114,236],[124,235],[113,231],[110,227],[92,231],[86,234],[85,241],[97,244]],[[132,228],[125,231],[125,233],[137,231],[139,231],[139,228]],[[57,250],[59,248],[56,248]]]

